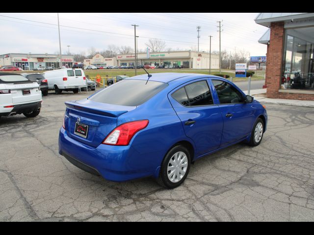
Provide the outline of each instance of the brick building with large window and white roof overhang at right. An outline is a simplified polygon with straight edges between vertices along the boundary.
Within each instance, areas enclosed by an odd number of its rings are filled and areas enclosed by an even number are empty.
[[[314,100],[314,13],[260,13],[269,98]]]

